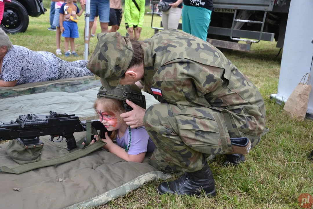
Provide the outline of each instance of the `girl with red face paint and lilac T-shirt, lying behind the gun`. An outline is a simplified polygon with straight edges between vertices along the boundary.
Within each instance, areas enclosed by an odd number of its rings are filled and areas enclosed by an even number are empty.
[[[130,128],[120,117],[121,113],[126,112],[122,101],[100,97],[96,99],[94,108],[101,123],[108,131],[112,131],[110,136],[106,132],[102,139],[107,143],[103,148],[110,153],[126,161],[142,163],[146,152],[152,152],[156,148],[144,126]],[[98,141],[98,136],[95,137]],[[117,144],[113,143],[114,139]],[[93,142],[94,140],[91,143]]]

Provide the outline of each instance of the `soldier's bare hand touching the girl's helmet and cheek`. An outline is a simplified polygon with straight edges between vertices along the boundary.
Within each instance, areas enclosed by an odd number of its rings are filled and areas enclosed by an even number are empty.
[[[131,128],[143,126],[143,116],[145,115],[146,110],[128,99],[126,99],[126,103],[131,106],[133,110],[122,113],[121,118],[123,118],[126,124],[131,126]]]

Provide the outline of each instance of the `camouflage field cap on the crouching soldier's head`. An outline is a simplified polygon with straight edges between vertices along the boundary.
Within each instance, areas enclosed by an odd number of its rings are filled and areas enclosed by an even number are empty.
[[[130,41],[126,42],[128,37],[119,32],[99,33],[97,38],[95,51],[86,67],[100,77],[106,89],[114,89],[131,62],[132,45]]]

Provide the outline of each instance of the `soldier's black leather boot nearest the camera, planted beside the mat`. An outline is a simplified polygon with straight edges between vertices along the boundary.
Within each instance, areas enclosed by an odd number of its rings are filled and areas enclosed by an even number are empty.
[[[177,195],[201,195],[203,191],[207,196],[215,196],[216,188],[209,165],[206,163],[201,170],[185,172],[179,179],[163,182],[157,187],[159,194],[173,193]]]

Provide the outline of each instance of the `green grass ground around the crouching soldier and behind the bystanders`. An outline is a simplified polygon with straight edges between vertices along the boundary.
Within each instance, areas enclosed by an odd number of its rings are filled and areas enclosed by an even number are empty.
[[[160,24],[156,17],[154,25]],[[55,52],[55,32],[48,31],[49,10],[39,18],[30,18],[25,33],[9,35],[13,44],[25,46],[31,50]],[[75,40],[76,52],[80,57],[64,60],[83,59],[84,18],[79,18],[80,38]],[[121,34],[126,33],[124,19]],[[100,32],[98,23],[97,32]],[[145,16],[141,39],[154,34],[151,29],[151,16]],[[64,38],[61,39],[64,53]],[[97,38],[90,41],[93,51]],[[277,92],[281,55],[274,42],[252,45],[252,50],[239,52],[222,50],[252,82],[257,86],[266,103],[266,127],[270,128],[260,143],[246,156],[247,160],[237,167],[225,167],[223,156],[209,162],[216,181],[217,196],[187,197],[163,195],[156,192],[161,182],[149,182],[131,193],[110,201],[104,208],[300,208],[298,196],[301,193],[313,195],[313,162],[308,154],[313,149],[313,123],[306,119],[297,122],[287,118],[283,107],[269,99]]]

